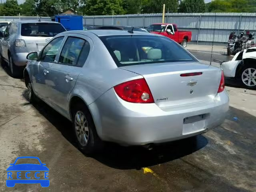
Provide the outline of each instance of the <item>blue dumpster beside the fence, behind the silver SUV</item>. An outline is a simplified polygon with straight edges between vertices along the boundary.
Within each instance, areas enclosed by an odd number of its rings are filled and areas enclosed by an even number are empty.
[[[80,15],[59,14],[54,21],[61,23],[67,31],[83,30],[83,16]]]

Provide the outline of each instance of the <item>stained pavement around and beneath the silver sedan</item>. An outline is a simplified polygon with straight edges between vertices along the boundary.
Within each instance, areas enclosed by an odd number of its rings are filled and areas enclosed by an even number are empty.
[[[256,91],[235,83],[226,90],[226,120],[196,140],[152,150],[110,143],[87,156],[74,144],[71,123],[44,102],[30,104],[24,80],[0,67],[0,192],[255,192]],[[19,156],[46,164],[48,188],[6,187],[6,168]]]

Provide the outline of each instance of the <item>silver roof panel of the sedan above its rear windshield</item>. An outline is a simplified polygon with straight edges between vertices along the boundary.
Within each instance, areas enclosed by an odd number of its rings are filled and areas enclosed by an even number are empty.
[[[134,31],[133,33],[129,33],[126,30],[74,30],[74,31],[66,31],[62,32],[61,34],[72,34],[72,33],[77,33],[77,34],[88,34],[88,33],[93,33],[96,36],[110,36],[110,35],[150,35],[150,36],[159,36],[157,34],[152,34],[152,33],[145,33],[145,32],[139,32],[139,31]]]

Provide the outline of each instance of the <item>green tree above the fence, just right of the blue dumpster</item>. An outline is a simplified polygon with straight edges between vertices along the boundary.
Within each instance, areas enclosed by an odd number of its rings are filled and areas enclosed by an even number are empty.
[[[85,13],[87,15],[124,14],[122,0],[86,0]]]

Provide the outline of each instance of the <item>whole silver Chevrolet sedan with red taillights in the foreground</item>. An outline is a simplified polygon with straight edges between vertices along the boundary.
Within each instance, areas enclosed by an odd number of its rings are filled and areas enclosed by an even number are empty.
[[[72,121],[85,153],[102,141],[145,145],[196,136],[228,111],[222,70],[164,36],[68,31],[27,58],[29,100],[38,97]]]

